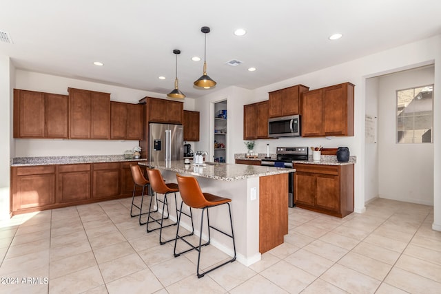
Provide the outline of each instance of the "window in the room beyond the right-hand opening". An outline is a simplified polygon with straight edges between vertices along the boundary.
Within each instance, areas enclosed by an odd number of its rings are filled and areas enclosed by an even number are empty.
[[[397,143],[432,143],[433,85],[397,91]]]

